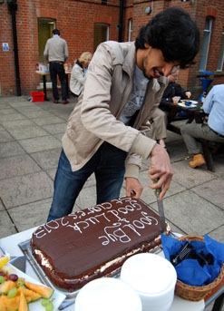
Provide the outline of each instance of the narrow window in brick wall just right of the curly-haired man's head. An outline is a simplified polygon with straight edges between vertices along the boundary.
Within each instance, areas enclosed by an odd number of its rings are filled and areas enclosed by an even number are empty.
[[[203,36],[203,41],[202,41],[202,46],[201,46],[200,71],[206,70],[212,24],[213,24],[213,18],[211,16],[207,16],[206,23],[205,23],[205,29],[204,29],[204,36]]]

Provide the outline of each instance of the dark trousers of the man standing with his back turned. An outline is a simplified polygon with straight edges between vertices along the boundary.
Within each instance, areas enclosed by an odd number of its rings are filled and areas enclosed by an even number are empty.
[[[57,89],[57,76],[58,76],[61,82],[61,86],[62,86],[62,98],[63,98],[63,101],[66,101],[68,96],[67,96],[67,90],[66,90],[66,74],[64,72],[63,62],[61,63],[51,62],[49,70],[50,70],[50,75],[51,75],[51,80],[52,80],[52,92],[53,92],[54,100],[55,101],[59,100],[59,93]]]

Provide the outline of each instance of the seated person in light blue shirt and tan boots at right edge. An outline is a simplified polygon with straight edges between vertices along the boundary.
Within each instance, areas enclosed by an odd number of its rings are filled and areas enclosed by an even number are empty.
[[[224,142],[224,84],[213,86],[203,103],[203,110],[209,113],[208,123],[189,123],[180,128],[183,141],[193,156],[189,162],[192,169],[205,164],[197,139]]]

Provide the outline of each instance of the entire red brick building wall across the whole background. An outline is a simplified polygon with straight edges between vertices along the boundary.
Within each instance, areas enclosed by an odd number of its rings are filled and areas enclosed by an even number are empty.
[[[15,14],[19,73],[22,94],[30,94],[39,84],[39,76],[35,73],[35,63],[38,62],[38,37],[37,18],[46,17],[56,20],[56,27],[60,29],[62,37],[67,41],[69,47],[69,63],[73,63],[84,51],[93,52],[93,25],[102,23],[110,25],[110,40],[118,40],[118,27],[120,17],[120,1],[108,0],[107,5],[102,5],[100,0],[17,0],[18,9]],[[151,5],[151,15],[146,15],[145,8]],[[206,15],[213,15],[215,22],[211,37],[209,50],[209,61],[207,70],[216,71],[221,33],[224,25],[224,2],[220,0],[195,0],[194,5],[190,1],[180,0],[126,0],[124,2],[123,14],[123,38],[128,39],[128,20],[133,20],[132,38],[146,24],[151,17],[169,6],[180,6],[190,13],[200,27],[201,40],[205,26]],[[9,51],[0,50],[0,94],[16,95],[15,79],[15,53],[13,43],[12,15],[7,3],[0,5],[0,41],[9,44]],[[198,66],[200,54],[196,57],[196,64],[189,70],[180,73],[179,82],[183,87],[200,92],[200,79],[198,77]],[[224,83],[223,73],[215,75],[213,84]]]

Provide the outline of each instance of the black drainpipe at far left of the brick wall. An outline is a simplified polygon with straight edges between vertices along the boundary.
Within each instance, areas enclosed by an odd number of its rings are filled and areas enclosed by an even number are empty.
[[[20,75],[19,75],[18,44],[17,44],[17,32],[16,32],[16,19],[15,19],[15,12],[17,11],[17,0],[7,0],[7,4],[8,4],[8,9],[9,9],[11,15],[12,15],[14,52],[15,52],[16,94],[17,94],[17,96],[21,96]]]

